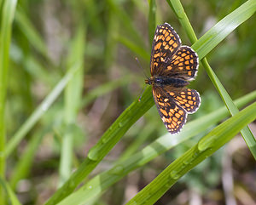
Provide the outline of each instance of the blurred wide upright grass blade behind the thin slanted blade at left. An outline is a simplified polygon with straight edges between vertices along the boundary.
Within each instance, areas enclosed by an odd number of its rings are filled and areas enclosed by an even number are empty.
[[[79,64],[79,70],[74,74],[74,77],[65,89],[65,112],[64,122],[66,132],[63,135],[61,144],[61,164],[60,164],[60,182],[62,185],[70,176],[72,171],[73,158],[73,133],[69,128],[76,122],[81,94],[83,89],[84,76],[84,26],[79,26],[77,35],[73,39],[73,45],[70,49],[69,58],[67,60],[68,70],[77,69],[73,65]]]

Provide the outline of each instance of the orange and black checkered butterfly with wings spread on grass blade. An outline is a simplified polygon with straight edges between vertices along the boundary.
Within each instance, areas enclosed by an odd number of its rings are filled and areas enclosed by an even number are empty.
[[[197,111],[201,104],[195,89],[185,88],[195,79],[198,56],[189,46],[183,46],[176,31],[169,24],[157,26],[152,44],[151,77],[154,102],[162,121],[171,134],[183,128],[188,113]]]

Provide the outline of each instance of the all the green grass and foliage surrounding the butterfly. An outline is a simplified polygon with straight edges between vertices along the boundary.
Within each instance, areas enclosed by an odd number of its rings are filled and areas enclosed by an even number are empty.
[[[0,9],[0,204],[256,201],[255,123],[245,127],[256,118],[255,0],[0,0]],[[189,85],[201,108],[177,135],[166,134],[151,88],[138,101],[135,57],[149,76],[164,22],[201,60]]]

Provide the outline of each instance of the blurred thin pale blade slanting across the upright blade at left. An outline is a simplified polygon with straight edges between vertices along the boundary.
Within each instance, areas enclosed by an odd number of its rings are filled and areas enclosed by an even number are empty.
[[[61,78],[61,81],[53,88],[50,94],[44,99],[44,101],[38,106],[36,111],[24,122],[20,129],[14,134],[11,140],[9,140],[6,150],[4,152],[5,156],[8,157],[9,154],[14,151],[15,147],[19,144],[26,134],[31,130],[36,122],[44,115],[44,112],[49,109],[49,106],[57,99],[61,94],[62,90],[66,87],[67,83],[72,79],[76,71],[78,71],[80,65],[74,65],[76,69],[68,71],[67,74]]]

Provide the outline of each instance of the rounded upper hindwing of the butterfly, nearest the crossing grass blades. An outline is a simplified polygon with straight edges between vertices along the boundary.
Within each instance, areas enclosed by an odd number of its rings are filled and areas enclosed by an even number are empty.
[[[166,62],[161,75],[191,81],[195,79],[198,65],[198,56],[195,51],[189,46],[181,46],[173,54],[172,59]]]

